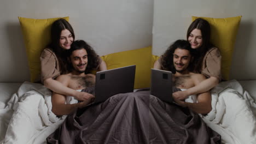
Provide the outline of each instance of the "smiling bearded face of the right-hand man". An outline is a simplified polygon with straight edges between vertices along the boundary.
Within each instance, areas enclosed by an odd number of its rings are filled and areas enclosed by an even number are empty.
[[[188,50],[176,49],[173,53],[173,64],[179,73],[187,70],[191,55]]]

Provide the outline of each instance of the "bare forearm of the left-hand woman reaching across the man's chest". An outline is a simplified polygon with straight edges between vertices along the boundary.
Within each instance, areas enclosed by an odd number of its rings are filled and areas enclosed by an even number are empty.
[[[51,89],[51,91],[55,93],[73,96],[74,98],[81,101],[88,100],[92,96],[92,94],[86,92],[75,91],[74,89],[63,85],[61,82],[52,78],[44,80],[44,86]]]

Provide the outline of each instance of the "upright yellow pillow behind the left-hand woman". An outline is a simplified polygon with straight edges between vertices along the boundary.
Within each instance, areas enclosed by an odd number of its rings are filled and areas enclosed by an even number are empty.
[[[22,29],[28,66],[30,67],[30,80],[38,80],[40,74],[40,53],[50,43],[51,24],[57,19],[69,20],[69,17],[58,17],[53,19],[28,19],[18,17]]]

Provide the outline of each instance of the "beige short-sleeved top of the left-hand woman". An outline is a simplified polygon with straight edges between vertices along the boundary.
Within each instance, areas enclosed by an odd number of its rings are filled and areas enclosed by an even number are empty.
[[[103,61],[100,56],[98,56],[99,64],[97,66],[100,67],[100,63]],[[40,62],[41,62],[41,82],[43,83],[44,80],[53,78],[56,79],[57,76],[62,74],[59,59],[53,52],[53,50],[46,48],[43,50],[40,56]]]

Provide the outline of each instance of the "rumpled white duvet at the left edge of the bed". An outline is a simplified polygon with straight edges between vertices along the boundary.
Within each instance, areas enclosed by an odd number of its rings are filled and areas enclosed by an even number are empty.
[[[51,112],[49,89],[39,83],[30,82],[22,83],[7,106],[0,109],[0,116],[0,143],[46,143],[46,137],[65,118],[56,117]]]

